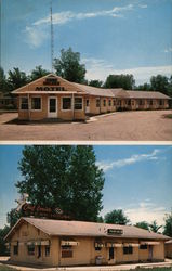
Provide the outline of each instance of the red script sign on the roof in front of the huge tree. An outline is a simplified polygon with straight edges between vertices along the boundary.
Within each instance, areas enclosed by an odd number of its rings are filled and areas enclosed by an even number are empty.
[[[31,205],[25,203],[22,206],[23,216],[34,216],[34,217],[45,217],[45,218],[56,218],[56,219],[70,219],[69,216],[64,215],[63,210],[59,208],[42,207],[40,205]]]

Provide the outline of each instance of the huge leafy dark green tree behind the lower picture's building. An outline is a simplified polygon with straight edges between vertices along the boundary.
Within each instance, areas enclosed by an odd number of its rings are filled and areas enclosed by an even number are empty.
[[[34,205],[59,207],[75,219],[96,221],[104,177],[95,162],[92,146],[25,146],[18,165],[23,180],[16,186]]]

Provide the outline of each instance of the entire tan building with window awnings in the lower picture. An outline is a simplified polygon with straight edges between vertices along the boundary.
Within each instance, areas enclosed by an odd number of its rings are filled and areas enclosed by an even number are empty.
[[[5,236],[11,262],[47,267],[163,261],[168,240],[132,225],[30,217]]]

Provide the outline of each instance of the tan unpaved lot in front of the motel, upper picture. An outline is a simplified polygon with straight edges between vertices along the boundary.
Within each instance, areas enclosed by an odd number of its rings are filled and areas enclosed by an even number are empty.
[[[172,141],[172,111],[117,112],[88,122],[16,124],[0,115],[0,141]]]

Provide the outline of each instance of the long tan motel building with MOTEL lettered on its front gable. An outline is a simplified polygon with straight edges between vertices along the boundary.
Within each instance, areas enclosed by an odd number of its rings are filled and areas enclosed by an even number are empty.
[[[101,89],[67,81],[54,74],[13,91],[18,119],[84,120],[116,111],[168,109],[169,96],[156,91]]]

